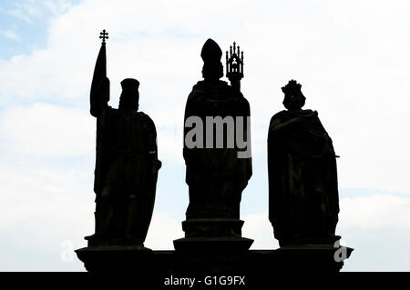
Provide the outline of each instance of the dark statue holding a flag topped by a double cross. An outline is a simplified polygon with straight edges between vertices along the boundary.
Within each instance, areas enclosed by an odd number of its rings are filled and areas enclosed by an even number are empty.
[[[97,117],[96,234],[88,245],[143,245],[153,211],[158,170],[154,122],[138,111],[138,81],[121,82],[118,109],[108,106],[104,30],[90,93]]]

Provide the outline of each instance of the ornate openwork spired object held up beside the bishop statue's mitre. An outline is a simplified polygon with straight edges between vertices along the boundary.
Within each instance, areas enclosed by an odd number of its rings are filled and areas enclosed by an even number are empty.
[[[230,54],[226,52],[226,76],[231,81],[231,85],[238,90],[241,90],[241,78],[243,77],[243,52],[241,52],[240,46],[236,46],[233,42],[230,46]]]

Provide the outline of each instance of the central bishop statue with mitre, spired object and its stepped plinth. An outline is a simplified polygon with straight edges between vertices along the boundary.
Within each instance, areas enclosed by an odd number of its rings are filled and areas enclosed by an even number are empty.
[[[241,237],[240,203],[251,178],[250,105],[241,94],[243,53],[233,44],[226,55],[229,85],[221,81],[220,46],[208,39],[202,47],[203,80],[193,86],[184,117],[183,157],[190,204],[182,222],[181,249],[247,250]],[[236,141],[241,142],[236,142]]]

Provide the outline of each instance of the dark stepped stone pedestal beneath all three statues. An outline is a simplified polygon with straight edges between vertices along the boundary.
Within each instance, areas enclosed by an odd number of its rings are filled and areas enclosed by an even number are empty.
[[[109,245],[112,241],[95,245],[97,240],[88,238],[88,247],[76,253],[88,272],[125,275],[131,283],[144,285],[144,289],[163,290],[175,288],[167,285],[170,281],[181,283],[188,278],[196,281],[192,289],[227,289],[227,285],[206,284],[233,281],[227,279],[243,281],[234,289],[262,289],[276,285],[283,277],[303,277],[297,281],[304,281],[305,277],[333,277],[353,251],[337,243],[249,250],[253,240],[241,237],[242,225],[241,220],[185,221],[182,226],[186,236],[174,241],[176,251],[152,251],[143,245]]]

